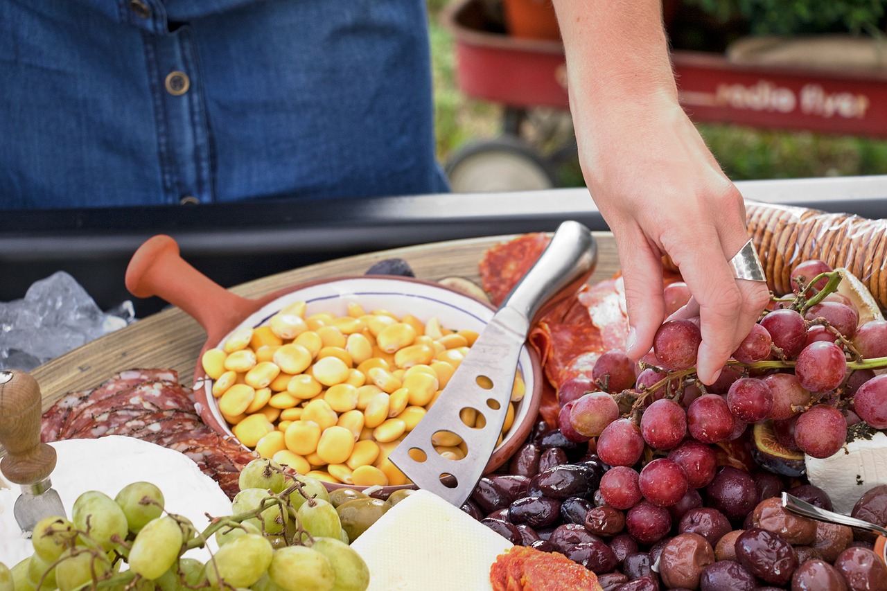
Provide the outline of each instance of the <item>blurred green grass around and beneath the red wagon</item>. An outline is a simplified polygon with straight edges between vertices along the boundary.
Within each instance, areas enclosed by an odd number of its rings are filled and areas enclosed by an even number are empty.
[[[428,0],[437,155],[441,162],[447,162],[467,142],[495,138],[502,129],[502,106],[469,98],[459,91],[453,41],[439,16],[447,1]],[[713,123],[701,123],[698,128],[727,176],[734,180],[887,174],[887,140]],[[569,144],[569,138],[564,138],[561,131],[536,147],[547,157],[565,144]],[[575,157],[559,162],[557,169],[562,185],[583,184]]]

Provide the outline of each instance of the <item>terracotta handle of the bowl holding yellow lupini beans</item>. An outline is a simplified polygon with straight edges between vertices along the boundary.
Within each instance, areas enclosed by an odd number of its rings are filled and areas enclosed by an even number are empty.
[[[126,269],[126,288],[133,296],[160,296],[197,320],[217,343],[255,310],[256,302],[210,280],[179,254],[176,240],[160,234],[140,246]]]

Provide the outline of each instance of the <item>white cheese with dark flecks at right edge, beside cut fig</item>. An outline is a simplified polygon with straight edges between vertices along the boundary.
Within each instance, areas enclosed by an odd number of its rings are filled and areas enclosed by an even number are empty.
[[[854,439],[828,458],[807,455],[804,461],[810,483],[828,493],[838,513],[850,515],[862,493],[887,485],[887,435],[877,431],[871,439]]]

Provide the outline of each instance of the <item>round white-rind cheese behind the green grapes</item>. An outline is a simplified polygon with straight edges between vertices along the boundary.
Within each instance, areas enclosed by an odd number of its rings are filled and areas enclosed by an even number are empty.
[[[61,498],[67,517],[74,501],[87,491],[100,491],[112,499],[130,483],[146,481],[163,493],[166,509],[187,517],[197,530],[211,516],[232,514],[231,500],[216,481],[206,476],[184,453],[133,437],[108,436],[98,439],[67,439],[51,443],[56,450],[52,488]],[[21,532],[12,514],[21,488],[0,478],[0,562],[9,567],[34,554],[31,540]],[[212,545],[214,540],[209,540]],[[215,548],[215,546],[211,546]],[[190,550],[185,556],[207,559],[208,552]]]

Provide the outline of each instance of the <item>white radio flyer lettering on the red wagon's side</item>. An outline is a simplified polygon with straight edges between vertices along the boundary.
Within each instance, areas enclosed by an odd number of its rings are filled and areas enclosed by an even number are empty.
[[[790,88],[768,80],[759,80],[751,85],[718,84],[714,95],[709,95],[710,99],[703,100],[704,94],[698,91],[686,92],[682,93],[681,98],[689,104],[730,106],[748,111],[789,114],[797,109],[802,114],[824,119],[832,117],[862,119],[871,105],[871,101],[864,94],[828,92],[816,83],[805,84],[797,95]]]

